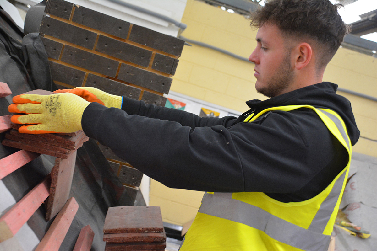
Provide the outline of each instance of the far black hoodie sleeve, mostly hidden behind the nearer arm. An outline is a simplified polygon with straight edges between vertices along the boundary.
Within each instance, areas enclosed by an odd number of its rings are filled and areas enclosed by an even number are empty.
[[[123,97],[122,110],[129,115],[140,115],[151,119],[169,120],[180,123],[182,126],[190,126],[192,129],[201,126],[223,125],[229,126],[235,117],[206,118],[182,110],[170,109],[162,106],[146,104],[144,101]]]

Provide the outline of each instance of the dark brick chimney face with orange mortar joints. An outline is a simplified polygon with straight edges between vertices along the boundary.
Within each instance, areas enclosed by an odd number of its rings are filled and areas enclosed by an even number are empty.
[[[48,0],[40,34],[59,88],[96,87],[164,106],[184,41],[62,0]],[[100,147],[123,184],[142,173]]]

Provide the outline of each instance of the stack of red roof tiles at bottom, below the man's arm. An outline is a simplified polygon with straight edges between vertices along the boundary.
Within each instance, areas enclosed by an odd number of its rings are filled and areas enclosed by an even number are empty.
[[[103,232],[105,251],[162,251],[166,248],[159,207],[110,207]]]

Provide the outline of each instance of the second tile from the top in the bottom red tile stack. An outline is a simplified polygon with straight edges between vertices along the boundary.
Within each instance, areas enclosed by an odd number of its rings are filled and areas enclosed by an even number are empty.
[[[123,243],[123,242],[166,242],[165,231],[161,233],[120,233],[104,234],[104,242]]]

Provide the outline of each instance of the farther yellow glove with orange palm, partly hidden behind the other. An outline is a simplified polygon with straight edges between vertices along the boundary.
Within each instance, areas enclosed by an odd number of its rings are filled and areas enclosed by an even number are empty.
[[[106,93],[94,87],[76,87],[74,89],[56,90],[54,93],[73,93],[89,102],[97,102],[108,108],[122,108],[122,96]]]

